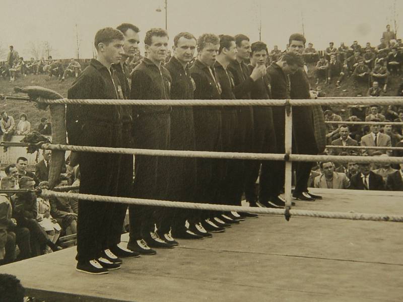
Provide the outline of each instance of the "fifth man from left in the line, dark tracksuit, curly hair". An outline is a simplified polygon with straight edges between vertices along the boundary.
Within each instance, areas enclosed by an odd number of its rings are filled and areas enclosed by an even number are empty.
[[[191,77],[196,86],[194,90],[195,100],[221,99],[220,83],[216,79],[213,70],[219,48],[220,39],[214,34],[203,34],[197,40],[199,58],[195,60],[193,66],[190,68]],[[193,106],[196,150],[222,151],[221,109],[222,106]],[[221,179],[220,161],[217,159],[197,158],[196,165],[197,202],[215,203]],[[205,219],[211,216],[209,211],[203,211],[200,215],[201,222],[189,227],[189,230],[193,233],[210,237],[211,234],[206,234],[206,231],[225,231],[217,225],[215,227],[214,225],[205,223]]]

